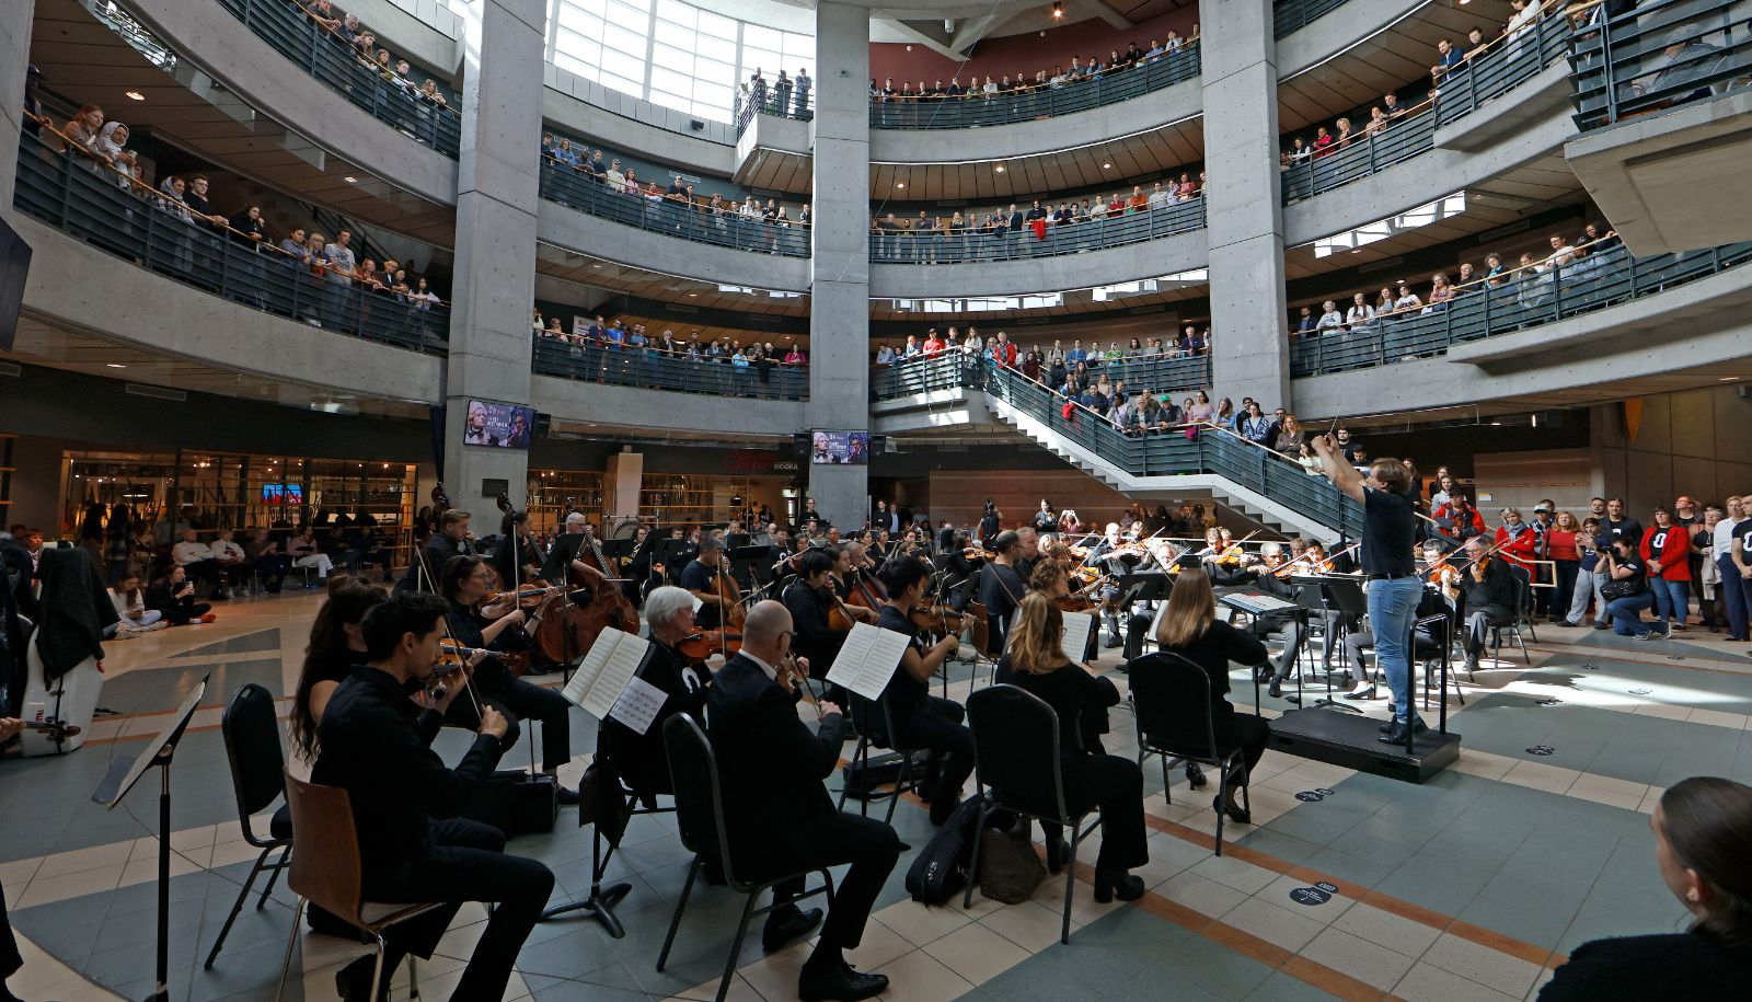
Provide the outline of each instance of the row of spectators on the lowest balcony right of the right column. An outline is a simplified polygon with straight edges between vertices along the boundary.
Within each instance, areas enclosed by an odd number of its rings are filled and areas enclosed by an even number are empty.
[[[1547,245],[1549,252],[1524,252],[1514,266],[1493,252],[1484,256],[1484,270],[1463,261],[1454,279],[1449,279],[1447,272],[1437,272],[1430,277],[1430,293],[1423,298],[1412,291],[1409,279],[1400,279],[1382,286],[1375,296],[1353,293],[1344,307],[1339,300],[1323,301],[1319,312],[1314,307],[1302,307],[1300,315],[1291,321],[1289,336],[1368,333],[1388,321],[1440,314],[1475,293],[1510,296],[1515,305],[1526,308],[1540,307],[1551,298],[1552,284],[1594,275],[1610,259],[1608,252],[1622,247],[1622,242],[1615,229],[1589,222],[1573,242],[1565,233],[1552,233],[1547,236]]]

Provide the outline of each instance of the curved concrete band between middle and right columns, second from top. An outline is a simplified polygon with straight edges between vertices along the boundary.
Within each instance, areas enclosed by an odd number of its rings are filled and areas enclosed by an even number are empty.
[[[1032,242],[1032,236],[1025,240]],[[1051,236],[1048,236],[1048,242],[1051,242]],[[1202,268],[1205,265],[1205,231],[1193,229],[1111,250],[1028,258],[1025,261],[871,265],[871,296],[878,300],[937,300],[1090,289]]]

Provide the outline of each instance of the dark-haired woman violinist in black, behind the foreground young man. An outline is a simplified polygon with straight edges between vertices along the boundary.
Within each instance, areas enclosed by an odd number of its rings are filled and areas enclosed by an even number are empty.
[[[482,613],[492,587],[492,569],[480,557],[450,557],[438,575],[438,594],[449,603],[450,636],[463,646],[508,650],[527,643],[519,629],[524,610],[513,608],[496,618]],[[541,722],[541,771],[548,776],[571,760],[571,702],[552,688],[543,688],[512,674],[505,659],[489,657],[475,667],[473,688],[489,708],[505,715],[505,748],[517,743],[519,718]],[[480,713],[470,699],[450,704],[445,720],[459,727],[478,727]],[[561,804],[576,804],[578,790],[561,787]]]

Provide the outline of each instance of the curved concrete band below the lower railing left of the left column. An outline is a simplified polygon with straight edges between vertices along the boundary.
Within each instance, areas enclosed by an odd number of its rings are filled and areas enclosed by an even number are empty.
[[[135,268],[35,219],[19,217],[14,226],[35,250],[25,308],[54,324],[300,385],[370,398],[438,399],[438,356],[251,310]],[[93,294],[98,275],[103,293]]]

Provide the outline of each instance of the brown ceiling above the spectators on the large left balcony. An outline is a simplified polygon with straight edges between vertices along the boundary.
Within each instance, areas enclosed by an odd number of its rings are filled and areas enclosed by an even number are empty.
[[[298,131],[245,105],[182,54],[177,54],[175,72],[166,74],[77,0],[37,2],[30,56],[42,68],[47,89],[103,107],[105,114],[128,123],[137,133],[135,145],[149,133],[291,198],[356,221],[443,247],[454,238],[454,208],[319,149]],[[287,65],[284,72],[298,70]],[[145,100],[131,100],[128,91]],[[214,194],[221,201],[226,196],[223,191]]]

